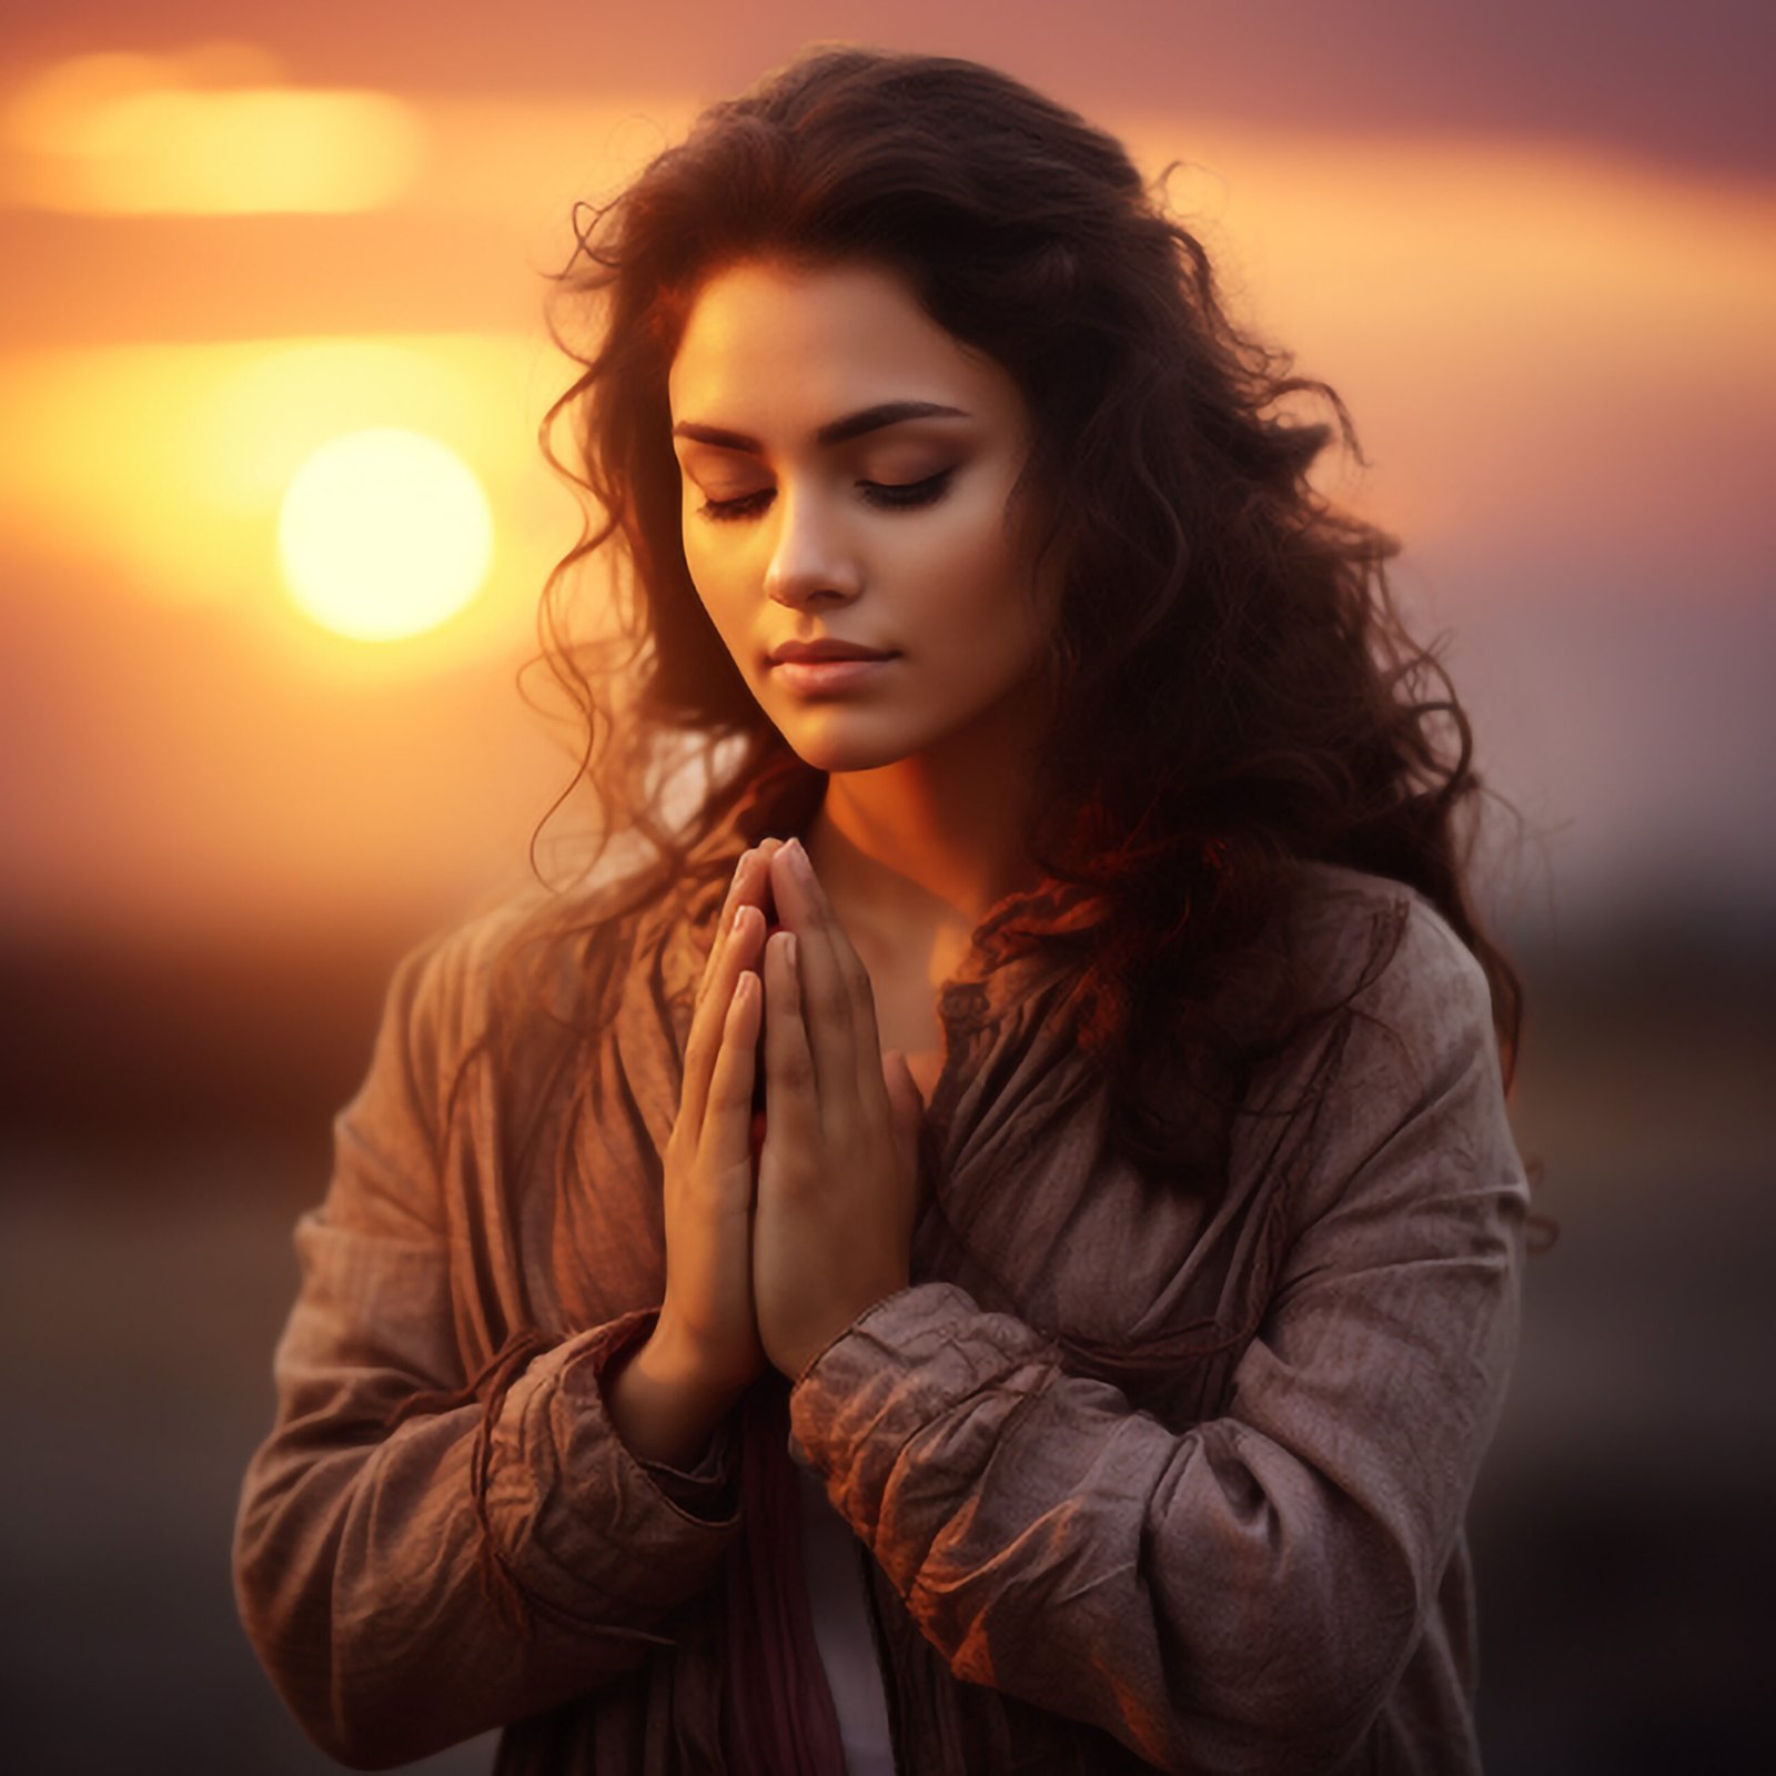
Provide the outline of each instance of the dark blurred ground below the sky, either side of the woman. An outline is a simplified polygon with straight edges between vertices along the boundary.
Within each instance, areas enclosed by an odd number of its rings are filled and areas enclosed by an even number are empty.
[[[289,1227],[408,938],[0,957],[11,1769],[334,1767],[238,1629],[229,1533]],[[1529,1265],[1472,1513],[1487,1767],[1776,1769],[1776,922],[1645,918],[1517,955],[1513,1115],[1561,1233]],[[483,1739],[416,1767],[490,1762]]]

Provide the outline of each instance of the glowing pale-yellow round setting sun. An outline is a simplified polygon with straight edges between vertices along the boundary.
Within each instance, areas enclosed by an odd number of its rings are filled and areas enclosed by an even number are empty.
[[[277,552],[297,604],[353,641],[435,629],[480,590],[494,551],[481,483],[419,432],[352,432],[291,476]]]

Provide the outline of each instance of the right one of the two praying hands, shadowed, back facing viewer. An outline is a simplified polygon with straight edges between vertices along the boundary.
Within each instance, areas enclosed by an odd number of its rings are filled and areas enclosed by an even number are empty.
[[[771,893],[781,929],[764,957],[753,1305],[765,1355],[794,1382],[909,1282],[925,1103],[906,1058],[883,1060],[868,971],[799,844],[771,856]]]

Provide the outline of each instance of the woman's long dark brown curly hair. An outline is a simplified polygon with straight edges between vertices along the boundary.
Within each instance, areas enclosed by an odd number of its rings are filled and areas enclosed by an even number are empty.
[[[995,941],[1078,950],[1080,1044],[1115,1140],[1156,1165],[1179,1151],[1181,1101],[1238,1099],[1252,1053],[1220,993],[1307,863],[1435,904],[1490,982],[1506,1083],[1524,998],[1469,899],[1472,735],[1394,607],[1398,545],[1309,481],[1330,446],[1357,449],[1350,417],[1236,329],[1163,201],[1170,170],[1149,188],[1114,137],[993,67],[815,44],[575,208],[551,327],[581,373],[542,426],[590,496],[540,616],[577,705],[575,783],[600,803],[600,844],[652,851],[606,918],[678,879],[789,751],[682,549],[666,387],[703,282],[744,259],[881,268],[1016,378],[1035,442],[1012,506],[1064,586],[1025,845],[1110,916],[1067,936],[1012,922]],[[609,595],[591,602],[581,570],[600,551]],[[694,758],[705,792],[671,822],[668,762]],[[588,908],[565,897],[551,929],[584,929]]]

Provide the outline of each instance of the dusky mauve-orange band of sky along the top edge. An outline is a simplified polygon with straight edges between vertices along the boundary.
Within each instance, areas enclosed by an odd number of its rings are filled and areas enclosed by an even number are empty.
[[[1671,165],[1776,172],[1762,0],[59,0],[0,30],[0,73],[78,50],[236,37],[293,80],[526,99],[730,92],[810,39],[970,55],[1089,115],[1231,115],[1321,135],[1384,128],[1593,144]],[[497,23],[496,23],[497,20]]]

